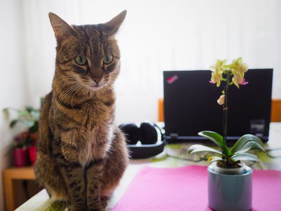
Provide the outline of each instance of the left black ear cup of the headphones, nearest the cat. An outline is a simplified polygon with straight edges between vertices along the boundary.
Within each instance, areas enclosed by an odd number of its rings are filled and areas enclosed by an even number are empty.
[[[127,144],[135,145],[140,140],[140,129],[135,124],[123,124],[119,128],[124,132]]]

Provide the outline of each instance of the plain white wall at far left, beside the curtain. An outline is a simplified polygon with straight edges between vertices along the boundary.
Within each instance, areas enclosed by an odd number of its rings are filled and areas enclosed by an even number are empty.
[[[22,61],[21,0],[1,0],[0,5],[0,211],[3,211],[2,170],[11,165],[11,156],[5,156],[5,152],[17,131],[9,128],[9,116],[2,109],[22,108],[27,103],[27,84]]]

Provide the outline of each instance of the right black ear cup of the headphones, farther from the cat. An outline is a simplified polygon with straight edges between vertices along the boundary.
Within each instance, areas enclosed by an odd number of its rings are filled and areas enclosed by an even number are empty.
[[[151,123],[140,125],[140,141],[143,145],[155,144],[157,142],[157,131]]]

